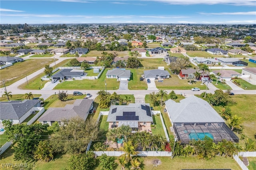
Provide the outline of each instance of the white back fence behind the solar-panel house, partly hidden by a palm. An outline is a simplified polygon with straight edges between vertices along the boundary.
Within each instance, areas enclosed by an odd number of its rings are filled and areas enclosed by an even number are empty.
[[[125,152],[122,151],[93,151],[97,156],[106,154],[107,156],[120,156]],[[172,156],[172,152],[166,151],[142,151],[137,154],[138,156]]]

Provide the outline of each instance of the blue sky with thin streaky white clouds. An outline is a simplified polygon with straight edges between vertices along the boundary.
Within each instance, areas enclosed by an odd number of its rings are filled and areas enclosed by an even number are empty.
[[[256,0],[0,0],[0,24],[256,24]]]

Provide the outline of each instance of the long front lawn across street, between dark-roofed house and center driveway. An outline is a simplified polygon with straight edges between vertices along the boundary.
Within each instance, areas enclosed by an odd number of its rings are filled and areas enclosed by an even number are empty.
[[[77,89],[77,90],[115,90],[119,88],[120,82],[117,82],[116,79],[107,79],[106,78],[107,69],[105,69],[100,76],[99,79],[95,80],[73,80],[73,81],[64,81],[59,83],[54,87],[54,89]],[[106,87],[105,87],[105,80],[106,80]]]

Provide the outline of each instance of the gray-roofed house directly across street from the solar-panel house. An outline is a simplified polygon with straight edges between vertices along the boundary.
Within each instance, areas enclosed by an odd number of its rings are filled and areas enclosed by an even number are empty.
[[[112,69],[106,73],[107,79],[130,80],[131,71],[126,69]]]

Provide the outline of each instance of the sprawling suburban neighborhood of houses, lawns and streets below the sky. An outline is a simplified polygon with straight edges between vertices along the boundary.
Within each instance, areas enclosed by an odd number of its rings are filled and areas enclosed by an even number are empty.
[[[255,24],[0,24],[0,39],[2,168],[256,168]]]

